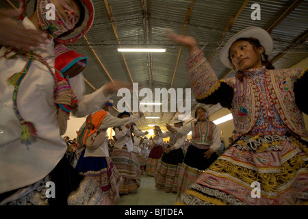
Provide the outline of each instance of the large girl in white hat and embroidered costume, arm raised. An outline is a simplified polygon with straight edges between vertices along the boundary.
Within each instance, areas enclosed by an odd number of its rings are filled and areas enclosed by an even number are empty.
[[[170,32],[190,49],[188,72],[196,100],[220,103],[233,115],[237,140],[181,194],[187,205],[297,205],[308,203],[307,69],[268,65],[272,38],[259,27],[233,36],[220,60],[237,70],[219,80],[196,40]],[[259,187],[256,187],[259,186]]]

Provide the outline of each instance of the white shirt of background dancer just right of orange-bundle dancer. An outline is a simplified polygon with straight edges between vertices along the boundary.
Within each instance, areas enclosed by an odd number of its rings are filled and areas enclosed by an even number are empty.
[[[123,149],[123,146],[126,144],[127,151],[128,152],[133,151],[133,140],[131,140],[131,129],[127,129],[127,127],[125,127],[125,125],[123,125],[123,126],[121,126],[121,130],[118,127],[116,127],[114,129],[114,132],[116,133],[116,139],[117,139],[116,142],[114,143],[114,146],[117,149]],[[133,125],[132,133],[135,136],[144,136],[145,135],[145,132],[138,131],[138,129],[134,125]],[[126,136],[127,134],[129,136]]]

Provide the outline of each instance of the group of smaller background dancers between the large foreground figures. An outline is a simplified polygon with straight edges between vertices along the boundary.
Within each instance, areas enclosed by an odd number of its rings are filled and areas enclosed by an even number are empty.
[[[64,137],[68,144],[66,157],[83,177],[79,188],[68,196],[68,205],[117,205],[121,194],[138,191],[141,175],[153,177],[156,188],[179,196],[218,157],[220,134],[218,127],[207,120],[209,110],[205,105],[192,111],[194,118],[198,118],[192,124],[183,126],[183,121],[174,120],[174,126],[167,124],[165,132],[155,126],[151,138],[147,138],[147,131],[142,132],[136,129],[135,123],[129,123],[133,119],[129,112],[118,114],[118,118],[110,116],[107,112],[112,106],[113,101],[109,100],[102,110],[94,113],[108,115],[107,120],[90,114],[77,131],[77,138],[72,141]],[[90,123],[95,124],[94,120],[101,124],[83,144],[82,135]],[[103,129],[108,127],[103,125],[104,121],[111,124],[109,120],[113,124],[124,124],[113,127],[115,135],[112,138],[108,138]],[[192,130],[192,125],[198,131]],[[190,131],[192,139],[188,140]],[[206,141],[202,141],[204,137]],[[168,140],[164,140],[166,138]]]

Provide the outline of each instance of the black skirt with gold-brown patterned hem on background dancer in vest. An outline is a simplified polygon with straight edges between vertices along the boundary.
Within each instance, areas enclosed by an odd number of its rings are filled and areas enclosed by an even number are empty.
[[[203,170],[209,167],[213,163],[218,155],[212,153],[211,157],[205,158],[204,153],[209,149],[200,149],[194,145],[188,146],[183,164],[180,170],[179,176],[179,188],[177,190],[177,195],[181,194],[188,188],[188,185],[194,183]]]

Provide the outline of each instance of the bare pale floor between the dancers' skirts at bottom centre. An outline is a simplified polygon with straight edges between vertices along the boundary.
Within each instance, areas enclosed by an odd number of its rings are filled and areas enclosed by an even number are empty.
[[[142,175],[136,192],[121,195],[118,205],[175,205],[176,193],[155,188],[154,177]]]

